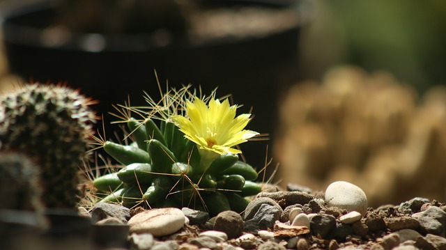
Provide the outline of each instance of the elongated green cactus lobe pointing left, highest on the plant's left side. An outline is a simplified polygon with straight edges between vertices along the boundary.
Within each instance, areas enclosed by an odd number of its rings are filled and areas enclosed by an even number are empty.
[[[106,141],[104,144],[104,150],[107,152],[107,154],[123,165],[132,163],[151,163],[151,157],[146,151],[133,146],[121,145],[112,141]]]

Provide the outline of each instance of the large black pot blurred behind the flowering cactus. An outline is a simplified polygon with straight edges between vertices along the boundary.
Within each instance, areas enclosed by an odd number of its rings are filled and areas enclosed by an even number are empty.
[[[213,2],[228,7],[258,4],[297,8],[300,1]],[[151,34],[141,33],[73,33],[58,43],[47,38],[60,34],[45,31],[55,17],[50,1],[0,9],[10,70],[25,79],[64,81],[81,88],[82,93],[100,101],[95,109],[105,114],[106,124],[114,120],[107,116],[114,111],[112,104],[123,104],[128,95],[132,105],[145,104],[143,91],[157,99],[156,70],[161,86],[167,79],[169,86],[177,88],[192,83],[200,85],[206,95],[218,86],[217,96],[232,94],[235,103],[244,104],[241,111],[246,113],[254,107],[249,130],[272,134],[279,94],[298,78],[300,24],[265,37],[205,45],[178,41],[157,47]],[[263,166],[266,143],[249,144],[246,149],[242,145],[248,161]]]

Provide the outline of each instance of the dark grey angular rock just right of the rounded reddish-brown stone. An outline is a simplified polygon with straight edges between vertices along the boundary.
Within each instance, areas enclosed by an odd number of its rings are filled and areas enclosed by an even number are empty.
[[[279,220],[282,208],[275,205],[262,204],[252,219],[245,221],[245,231],[257,233],[260,230],[274,228],[275,221]]]

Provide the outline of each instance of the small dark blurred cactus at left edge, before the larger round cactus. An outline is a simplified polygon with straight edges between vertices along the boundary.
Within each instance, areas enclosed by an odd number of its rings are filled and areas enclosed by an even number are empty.
[[[42,212],[38,166],[20,153],[0,153],[0,209]]]

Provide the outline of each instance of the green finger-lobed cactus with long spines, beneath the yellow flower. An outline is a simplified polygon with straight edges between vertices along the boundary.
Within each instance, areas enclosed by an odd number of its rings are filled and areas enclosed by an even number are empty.
[[[164,102],[149,102],[152,104],[148,107],[150,111],[142,120],[130,116],[125,118],[130,130],[129,138],[133,141],[130,145],[102,141],[105,152],[124,165],[117,172],[93,180],[94,187],[105,196],[102,201],[118,202],[130,208],[137,205],[150,208],[190,207],[215,215],[224,210],[243,212],[248,203],[243,194],[255,195],[261,191],[261,185],[254,182],[257,178],[254,168],[239,160],[237,153],[240,150],[219,146],[227,152],[215,153],[190,140],[187,130],[174,123],[181,116],[182,108],[194,105],[190,100],[197,101],[192,94],[188,98],[181,94],[189,93],[184,90],[187,87],[182,89],[183,92],[173,90],[173,94],[164,95]],[[204,104],[201,107],[206,107],[206,102],[214,102],[209,109],[220,104],[213,96],[198,102]],[[162,104],[157,106],[157,103]],[[229,109],[226,102],[222,105],[227,105],[224,111],[231,110],[235,116],[235,106]],[[124,109],[144,113],[141,107]],[[206,112],[208,108],[204,110]],[[126,114],[125,111],[121,114]],[[158,125],[155,118],[160,121]],[[239,120],[246,119],[246,123],[248,118],[246,114],[238,117]],[[240,127],[243,129],[244,126]],[[249,132],[252,136],[258,134],[241,129],[237,131]]]

